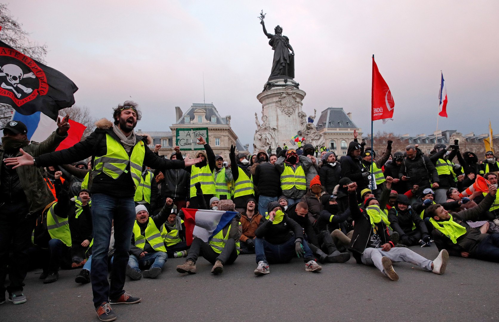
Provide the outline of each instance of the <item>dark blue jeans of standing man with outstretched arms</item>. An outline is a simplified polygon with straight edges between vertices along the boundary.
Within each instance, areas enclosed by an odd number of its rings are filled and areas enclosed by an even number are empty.
[[[107,254],[114,220],[114,261],[111,284],[107,281]],[[125,291],[125,272],[135,222],[133,197],[115,197],[103,193],[92,195],[93,253],[90,270],[94,306],[119,298]]]

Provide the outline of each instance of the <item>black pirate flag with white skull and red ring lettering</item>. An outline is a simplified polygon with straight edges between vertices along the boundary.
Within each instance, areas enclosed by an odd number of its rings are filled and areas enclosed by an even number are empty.
[[[24,115],[40,111],[57,120],[60,109],[73,106],[77,90],[61,72],[0,41],[0,103]]]

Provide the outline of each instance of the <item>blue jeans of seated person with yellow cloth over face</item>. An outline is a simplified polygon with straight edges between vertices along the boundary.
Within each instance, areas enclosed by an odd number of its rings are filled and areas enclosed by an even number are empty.
[[[291,238],[289,238],[285,243],[274,245],[267,242],[263,238],[255,238],[254,252],[256,254],[256,263],[258,263],[259,261],[270,264],[289,262],[293,257],[296,256],[296,252],[294,250],[294,240],[295,237],[291,236]],[[302,245],[303,250],[305,251],[305,255],[303,256],[305,263],[315,260],[310,247],[308,247],[307,242],[303,241]]]

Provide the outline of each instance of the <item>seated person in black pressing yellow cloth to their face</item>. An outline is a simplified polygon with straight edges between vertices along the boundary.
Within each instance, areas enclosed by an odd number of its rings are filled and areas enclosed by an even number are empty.
[[[277,202],[268,204],[269,219],[256,229],[254,250],[258,266],[255,275],[270,273],[268,262],[287,263],[294,255],[303,256],[305,271],[318,272],[322,269],[315,262],[312,251],[303,238],[303,229],[296,221],[284,214],[284,207]],[[294,233],[294,235],[293,235]]]

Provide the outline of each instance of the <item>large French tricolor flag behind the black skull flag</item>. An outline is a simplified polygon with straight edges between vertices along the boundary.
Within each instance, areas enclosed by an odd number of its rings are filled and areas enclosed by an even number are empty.
[[[62,120],[64,117],[59,116],[59,118]],[[26,125],[26,128],[28,129],[28,141],[43,142],[52,132],[57,130],[57,122],[41,112],[35,112],[31,115],[22,115],[21,113],[14,111],[11,120],[21,121]],[[55,151],[70,148],[80,142],[83,132],[87,128],[83,124],[71,119],[69,119],[69,125],[70,128],[67,131],[68,137],[59,144]]]

